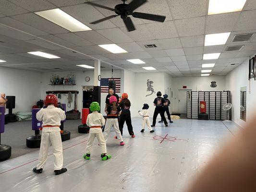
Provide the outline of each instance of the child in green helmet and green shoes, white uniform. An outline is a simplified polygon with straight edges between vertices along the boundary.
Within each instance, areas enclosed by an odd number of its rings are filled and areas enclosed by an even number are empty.
[[[90,110],[92,111],[92,113],[87,116],[86,120],[86,125],[90,127],[90,131],[86,147],[86,154],[84,155],[84,158],[86,160],[90,159],[92,152],[92,144],[95,137],[97,137],[99,146],[101,147],[101,160],[104,161],[110,159],[111,155],[106,155],[107,147],[101,130],[101,126],[105,125],[105,119],[102,114],[98,113],[98,111],[100,110],[98,102],[92,102],[90,105]]]

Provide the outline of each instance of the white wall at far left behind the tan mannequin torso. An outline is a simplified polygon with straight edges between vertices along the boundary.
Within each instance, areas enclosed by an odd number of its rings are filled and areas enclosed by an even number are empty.
[[[0,93],[15,96],[13,113],[31,111],[32,106],[40,99],[41,81],[40,72],[0,67]]]

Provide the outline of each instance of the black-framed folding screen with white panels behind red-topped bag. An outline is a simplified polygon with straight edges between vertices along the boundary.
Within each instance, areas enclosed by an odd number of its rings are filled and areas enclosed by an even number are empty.
[[[230,91],[187,91],[187,118],[198,119],[200,101],[206,101],[206,113],[210,120],[227,120],[223,106],[231,103]],[[229,113],[229,120],[231,113]]]

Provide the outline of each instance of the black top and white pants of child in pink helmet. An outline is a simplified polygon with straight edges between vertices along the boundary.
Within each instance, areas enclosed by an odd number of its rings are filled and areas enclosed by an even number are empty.
[[[114,111],[114,113],[113,113],[112,107],[108,107],[107,111],[108,111],[108,117],[107,117],[107,120],[106,120],[104,133],[103,133],[104,139],[107,142],[108,136],[109,136],[109,133],[110,133],[110,128],[113,127],[114,131],[116,132],[117,139],[121,143],[121,142],[123,142],[123,139],[122,139],[122,134],[119,130],[119,125],[118,125],[118,113],[120,113],[121,108],[117,107],[117,110]]]

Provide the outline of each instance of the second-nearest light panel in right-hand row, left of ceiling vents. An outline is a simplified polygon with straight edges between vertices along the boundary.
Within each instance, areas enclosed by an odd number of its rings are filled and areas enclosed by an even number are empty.
[[[208,34],[208,35],[206,35],[206,38],[205,38],[205,46],[225,45],[229,36],[230,36],[230,32],[229,33]]]

